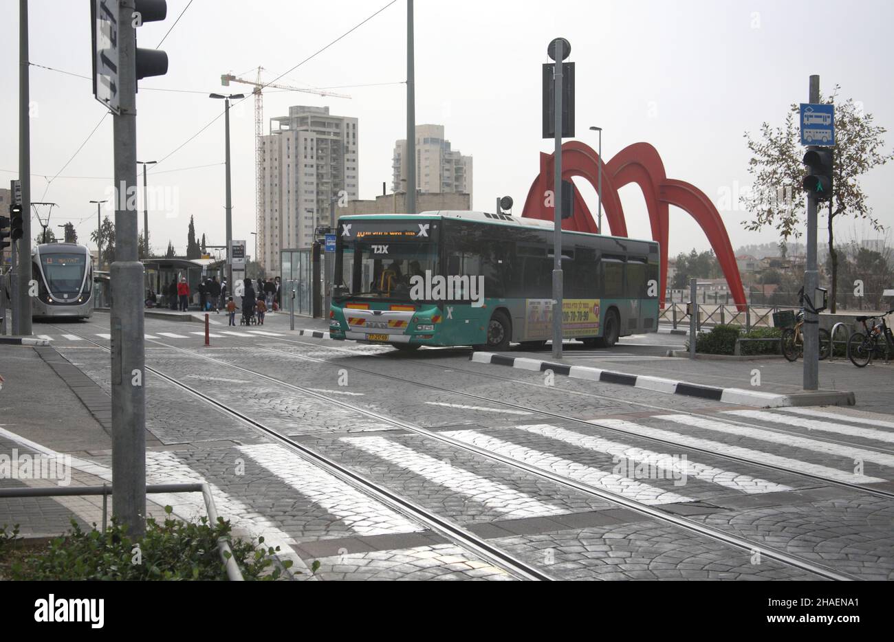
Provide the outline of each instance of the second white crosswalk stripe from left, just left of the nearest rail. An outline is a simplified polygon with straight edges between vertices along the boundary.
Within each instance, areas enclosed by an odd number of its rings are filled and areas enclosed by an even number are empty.
[[[239,450],[279,477],[287,486],[291,486],[308,497],[311,502],[342,520],[358,535],[423,530],[421,525],[412,523],[401,514],[360,493],[338,477],[317,468],[279,444],[244,445],[239,446]]]

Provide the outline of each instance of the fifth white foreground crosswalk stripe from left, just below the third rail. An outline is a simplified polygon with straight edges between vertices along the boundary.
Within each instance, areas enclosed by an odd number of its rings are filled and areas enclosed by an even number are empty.
[[[558,439],[562,442],[578,446],[579,448],[586,448],[587,450],[598,452],[608,452],[611,455],[617,455],[619,458],[628,460],[643,461],[646,465],[650,466],[662,466],[664,462],[671,462],[674,464],[673,468],[675,471],[684,472],[681,470],[684,467],[679,465],[679,459],[674,459],[671,456],[671,453],[668,452],[648,451],[643,448],[631,446],[627,443],[613,442],[609,439],[603,439],[602,437],[595,437],[592,435],[581,435],[572,430],[566,430],[565,428],[550,426],[548,424],[538,426],[516,426],[516,428],[526,430],[535,435]],[[719,486],[725,486],[747,494],[779,493],[781,491],[791,490],[791,486],[776,484],[775,482],[767,481],[760,477],[751,477],[750,475],[743,475],[732,470],[715,468],[688,458],[685,472],[687,477],[696,477],[696,479],[711,482],[712,484],[717,484]]]

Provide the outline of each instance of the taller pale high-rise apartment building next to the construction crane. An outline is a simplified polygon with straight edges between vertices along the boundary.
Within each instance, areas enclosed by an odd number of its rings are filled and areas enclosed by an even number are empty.
[[[278,275],[280,249],[307,248],[317,225],[328,225],[330,201],[347,192],[358,198],[357,119],[329,114],[329,107],[291,106],[270,120],[261,139],[263,217],[258,260]]]

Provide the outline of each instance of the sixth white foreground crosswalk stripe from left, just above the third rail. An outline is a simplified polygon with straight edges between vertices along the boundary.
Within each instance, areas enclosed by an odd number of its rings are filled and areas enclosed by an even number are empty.
[[[664,439],[669,442],[679,443],[694,448],[704,448],[705,450],[714,451],[723,454],[730,454],[734,457],[741,457],[748,460],[763,461],[763,463],[772,464],[796,472],[805,472],[810,475],[818,475],[821,477],[829,477],[836,481],[848,482],[851,484],[874,484],[876,482],[885,481],[880,477],[867,477],[865,475],[856,475],[850,470],[832,469],[828,466],[820,464],[812,464],[807,461],[793,460],[789,457],[780,457],[772,452],[755,451],[751,448],[742,446],[734,446],[730,443],[715,442],[711,439],[702,439],[701,437],[693,437],[690,435],[682,435],[672,430],[662,430],[662,428],[653,428],[635,424],[632,421],[624,419],[599,419],[593,422],[597,426],[607,426],[612,428],[620,428],[628,430],[637,435],[655,437],[656,439]]]

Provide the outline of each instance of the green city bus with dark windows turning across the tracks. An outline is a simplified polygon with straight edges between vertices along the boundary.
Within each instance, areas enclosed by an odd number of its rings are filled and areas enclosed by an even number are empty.
[[[338,221],[329,333],[401,350],[552,337],[552,223],[483,212]],[[658,243],[562,232],[562,330],[588,346],[658,327]]]

